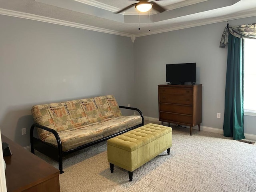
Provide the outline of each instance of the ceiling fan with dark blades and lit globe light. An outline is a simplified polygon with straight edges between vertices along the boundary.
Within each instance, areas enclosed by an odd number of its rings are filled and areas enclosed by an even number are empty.
[[[151,1],[151,2],[148,2],[148,0],[136,0],[136,1],[138,1],[138,3],[133,3],[115,13],[123,12],[124,10],[129,9],[134,5],[135,5],[135,8],[140,12],[147,12],[151,8],[153,8],[154,10],[157,10],[160,13],[166,11],[166,9],[164,7],[158,5],[157,3],[153,2],[153,1]],[[160,1],[160,0],[155,0],[155,1]]]

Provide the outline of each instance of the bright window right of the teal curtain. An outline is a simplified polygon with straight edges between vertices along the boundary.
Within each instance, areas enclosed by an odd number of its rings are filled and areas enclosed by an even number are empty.
[[[256,116],[256,39],[244,39],[244,114]]]

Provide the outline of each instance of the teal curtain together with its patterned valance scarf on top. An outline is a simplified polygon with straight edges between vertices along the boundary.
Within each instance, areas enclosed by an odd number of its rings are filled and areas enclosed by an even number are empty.
[[[244,38],[256,39],[256,23],[230,26],[227,23],[220,47],[228,45],[224,136],[244,139]]]

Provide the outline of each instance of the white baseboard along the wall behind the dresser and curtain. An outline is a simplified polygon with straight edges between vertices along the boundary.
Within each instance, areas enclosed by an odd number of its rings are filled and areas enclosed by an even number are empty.
[[[156,123],[158,123],[158,124],[161,123],[161,122],[158,120],[158,118],[153,118],[153,117],[144,116],[144,119],[145,119],[145,120],[148,120],[148,121],[156,122]],[[175,125],[175,124],[172,124],[172,125]],[[196,126],[196,127],[194,127],[193,129],[198,130],[198,127]],[[223,135],[223,130],[222,130],[222,129],[218,129],[218,128],[200,126],[200,130],[202,130],[202,131],[208,131],[208,132],[213,132],[213,133],[218,133],[218,134],[222,134],[222,135]],[[248,139],[248,140],[256,140],[256,135],[244,133],[244,136],[245,136],[245,138]]]

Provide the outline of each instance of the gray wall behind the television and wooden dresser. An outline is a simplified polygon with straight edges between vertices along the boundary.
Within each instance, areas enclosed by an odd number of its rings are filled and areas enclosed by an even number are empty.
[[[256,17],[230,21],[255,23]],[[219,48],[226,22],[136,38],[134,81],[136,106],[144,116],[158,118],[158,84],[166,83],[166,64],[197,63],[196,82],[202,84],[202,126],[222,130],[227,46]],[[217,112],[221,118],[217,118]],[[244,117],[244,132],[256,134],[255,116]]]

